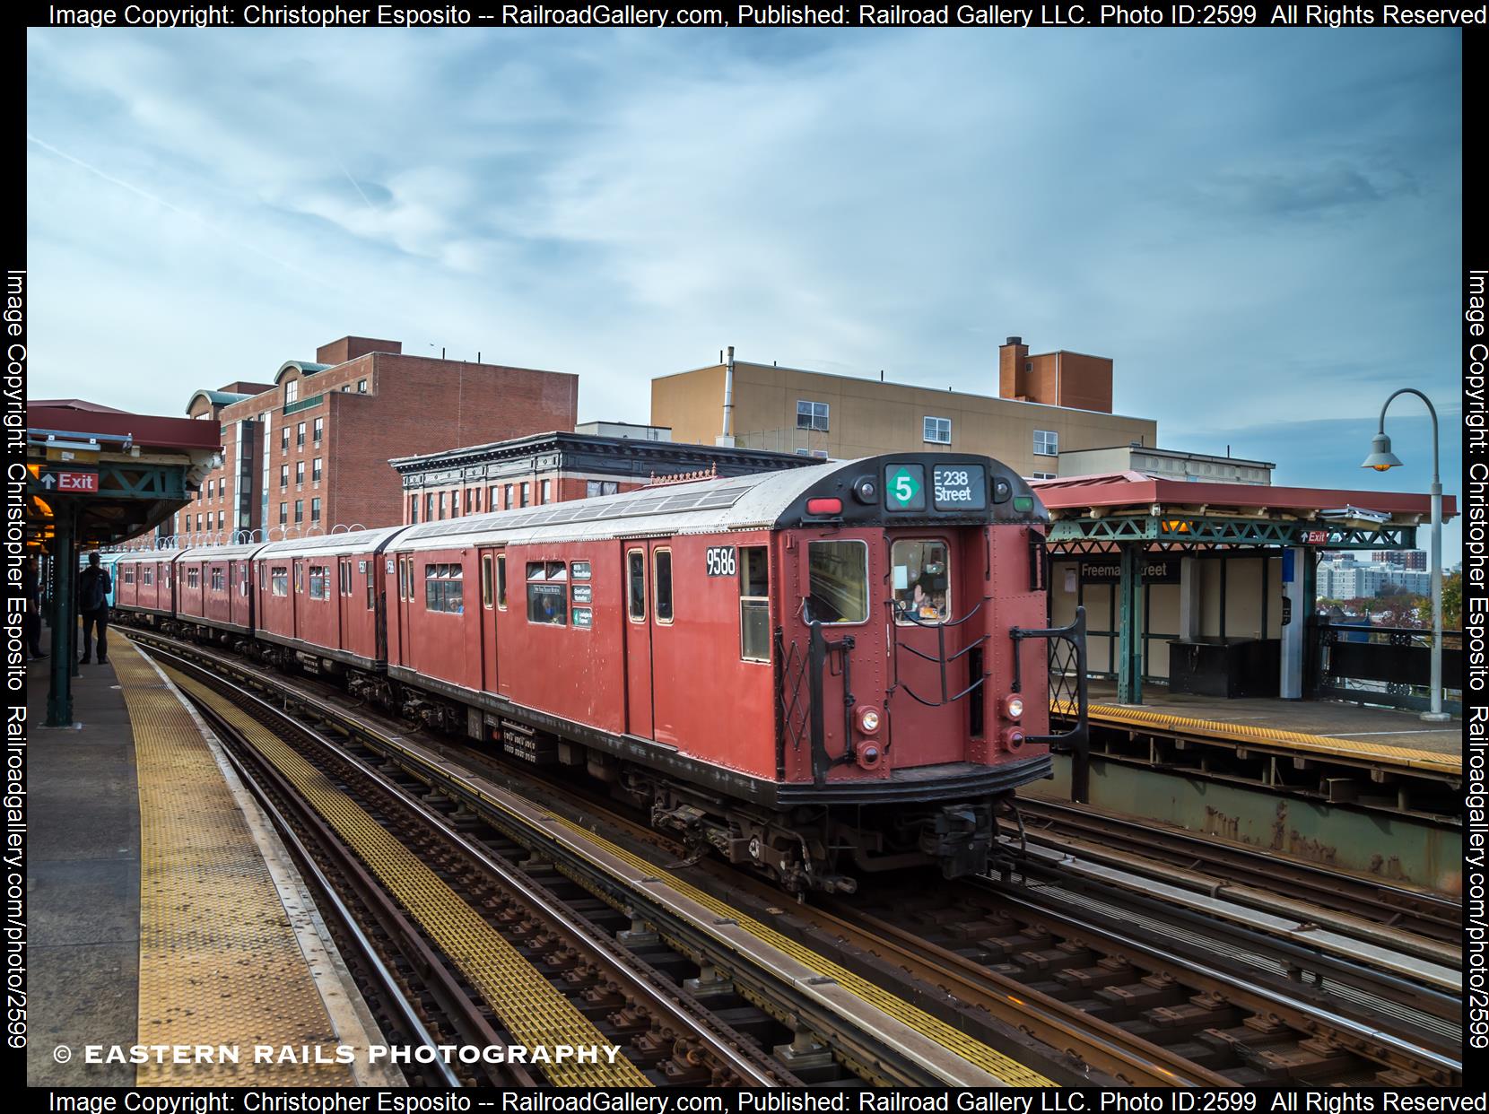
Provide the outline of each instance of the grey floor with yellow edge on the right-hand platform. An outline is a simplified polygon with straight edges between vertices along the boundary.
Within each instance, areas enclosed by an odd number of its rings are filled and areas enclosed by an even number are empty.
[[[1316,749],[1330,752],[1358,752],[1370,757],[1400,754],[1406,760],[1418,755],[1423,761],[1441,764],[1456,763],[1462,767],[1464,725],[1461,719],[1446,724],[1423,722],[1416,712],[1400,712],[1391,707],[1368,707],[1333,700],[1276,700],[1190,696],[1169,693],[1166,688],[1145,687],[1139,706],[1118,704],[1117,685],[1111,681],[1090,682],[1093,719],[1117,719],[1118,716],[1147,713],[1154,721],[1161,716],[1179,716],[1215,724],[1219,728],[1236,727],[1242,733],[1252,731],[1275,736],[1286,745],[1288,736],[1306,736],[1321,740]],[[1109,712],[1106,709],[1111,709]],[[1304,745],[1307,749],[1307,745]]]

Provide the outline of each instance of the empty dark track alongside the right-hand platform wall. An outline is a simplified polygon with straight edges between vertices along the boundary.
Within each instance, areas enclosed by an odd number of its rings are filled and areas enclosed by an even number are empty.
[[[1425,940],[1456,944],[1464,937],[1462,901],[1394,885],[1383,879],[1328,870],[1286,855],[1269,853],[1175,828],[1141,824],[1075,804],[1020,798],[1027,838],[1085,856],[1132,865],[1133,858],[1206,876],[1212,885],[1254,888],[1316,908],[1336,910],[1367,923]],[[1221,891],[1224,892],[1224,891]]]

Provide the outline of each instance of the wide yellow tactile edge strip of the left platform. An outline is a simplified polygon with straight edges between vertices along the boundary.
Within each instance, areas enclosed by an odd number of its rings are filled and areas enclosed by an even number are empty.
[[[305,955],[191,713],[133,645],[115,673],[140,792],[138,1043],[235,1048],[238,1063],[141,1063],[137,1086],[345,1086],[338,1063],[256,1063],[256,1045],[335,1045]],[[174,1059],[174,1053],[170,1056]]]

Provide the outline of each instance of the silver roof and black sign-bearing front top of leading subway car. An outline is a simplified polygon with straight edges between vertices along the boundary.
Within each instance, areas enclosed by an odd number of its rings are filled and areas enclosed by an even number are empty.
[[[916,494],[923,508],[887,511],[886,480],[907,466],[916,475]],[[974,480],[969,491],[980,477],[984,496],[981,505],[975,509],[938,509],[932,491],[926,490],[937,468],[966,471]],[[870,484],[868,490],[865,483]],[[832,500],[838,500],[838,509],[823,511],[814,500],[826,500],[828,508]],[[809,508],[809,503],[813,506]],[[1005,465],[968,453],[887,453],[814,468],[658,484],[624,494],[421,523],[405,527],[387,548],[390,553],[409,553],[508,542],[822,526],[977,526],[999,521],[1048,521],[1044,503]]]

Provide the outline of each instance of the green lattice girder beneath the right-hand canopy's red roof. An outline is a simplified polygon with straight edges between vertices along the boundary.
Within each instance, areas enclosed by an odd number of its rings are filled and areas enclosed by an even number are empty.
[[[1410,550],[1416,545],[1416,527],[1394,523],[1346,526],[1291,518],[1231,518],[1172,512],[1062,518],[1050,526],[1048,539],[1051,548],[1066,553],[1090,553],[1094,550],[1093,544],[1111,547],[1121,542],[1150,542],[1179,550],[1212,545]]]

